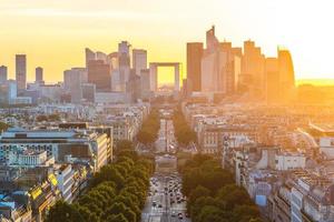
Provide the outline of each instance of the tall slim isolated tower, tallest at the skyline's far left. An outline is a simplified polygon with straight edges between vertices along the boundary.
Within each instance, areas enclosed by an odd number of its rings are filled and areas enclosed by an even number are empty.
[[[18,83],[18,92],[26,89],[27,84],[27,57],[26,54],[16,56],[16,80]]]

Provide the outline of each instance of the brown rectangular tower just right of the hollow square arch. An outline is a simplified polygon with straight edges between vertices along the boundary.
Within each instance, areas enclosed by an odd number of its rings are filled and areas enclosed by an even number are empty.
[[[203,43],[187,43],[187,88],[189,91],[200,91]]]

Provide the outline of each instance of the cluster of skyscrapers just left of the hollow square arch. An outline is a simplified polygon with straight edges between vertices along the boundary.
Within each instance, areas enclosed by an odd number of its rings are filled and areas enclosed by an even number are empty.
[[[146,50],[131,50],[129,42],[121,41],[117,52],[95,52],[87,48],[85,53],[85,68],[63,72],[65,90],[72,103],[92,99],[98,102],[146,99],[143,91],[150,90],[143,81],[149,73]]]

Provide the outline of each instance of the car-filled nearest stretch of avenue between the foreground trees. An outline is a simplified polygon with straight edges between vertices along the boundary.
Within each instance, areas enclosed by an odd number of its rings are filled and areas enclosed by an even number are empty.
[[[181,180],[177,173],[155,174],[141,213],[143,222],[190,222],[186,218],[186,200],[180,193]]]

